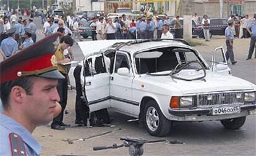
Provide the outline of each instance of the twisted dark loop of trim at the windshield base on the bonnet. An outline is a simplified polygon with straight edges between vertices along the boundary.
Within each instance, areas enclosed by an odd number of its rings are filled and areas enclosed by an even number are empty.
[[[191,78],[191,79],[187,79],[187,78],[181,78],[179,76],[175,76],[174,74],[177,74],[179,72],[181,72],[181,70],[183,70],[184,68],[186,68],[187,66],[189,66],[190,64],[199,64],[200,67],[202,68],[198,68],[196,71],[199,71],[199,70],[203,70],[203,76],[200,76],[198,78]],[[175,79],[178,79],[178,80],[185,80],[185,81],[193,81],[193,80],[202,80],[203,78],[205,78],[206,76],[206,70],[205,70],[205,67],[203,67],[203,64],[201,62],[198,62],[198,60],[192,60],[192,61],[189,61],[187,62],[186,64],[178,64],[176,65],[176,67],[174,68],[173,71],[171,71],[169,73],[169,75],[172,77],[172,78],[175,78]]]

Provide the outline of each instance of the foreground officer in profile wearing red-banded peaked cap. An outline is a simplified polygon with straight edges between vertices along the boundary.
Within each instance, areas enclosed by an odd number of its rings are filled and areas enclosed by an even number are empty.
[[[58,36],[42,39],[0,63],[0,155],[40,155],[41,146],[32,133],[61,111],[56,87],[64,76],[53,55]]]

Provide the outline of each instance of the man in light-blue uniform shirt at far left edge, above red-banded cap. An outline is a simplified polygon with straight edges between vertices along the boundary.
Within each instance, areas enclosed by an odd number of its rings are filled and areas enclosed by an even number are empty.
[[[11,55],[14,55],[15,52],[18,50],[18,43],[15,41],[15,28],[11,28],[7,31],[8,38],[2,40],[1,46],[0,46],[0,53],[2,57],[7,59],[8,57],[11,57]]]

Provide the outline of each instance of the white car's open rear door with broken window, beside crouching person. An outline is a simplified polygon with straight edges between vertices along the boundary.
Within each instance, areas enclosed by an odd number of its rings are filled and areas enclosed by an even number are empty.
[[[90,112],[110,107],[109,72],[103,52],[85,57],[81,72],[81,84],[85,88]]]

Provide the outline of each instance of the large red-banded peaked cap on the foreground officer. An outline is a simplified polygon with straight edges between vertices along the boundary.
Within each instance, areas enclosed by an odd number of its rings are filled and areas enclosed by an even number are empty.
[[[25,76],[62,79],[54,55],[60,33],[54,33],[0,63],[0,84]]]

